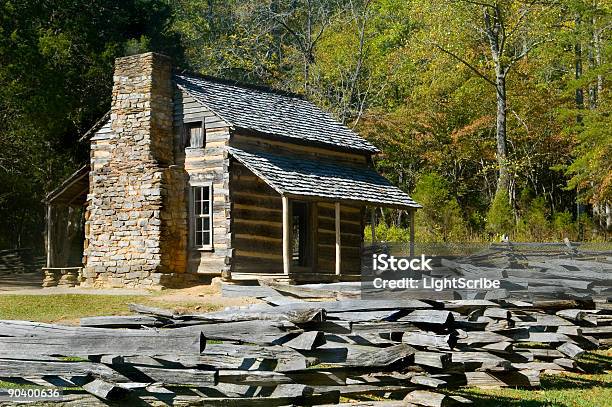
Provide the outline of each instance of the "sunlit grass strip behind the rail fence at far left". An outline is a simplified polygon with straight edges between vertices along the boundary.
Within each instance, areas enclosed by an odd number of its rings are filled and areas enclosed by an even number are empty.
[[[217,309],[207,303],[169,303],[154,295],[0,295],[0,319],[78,323],[80,317],[128,315],[129,303],[200,312]]]

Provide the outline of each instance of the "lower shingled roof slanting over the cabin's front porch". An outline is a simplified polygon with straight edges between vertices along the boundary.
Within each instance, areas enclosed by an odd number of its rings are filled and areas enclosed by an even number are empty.
[[[229,153],[281,195],[420,208],[371,168],[228,147]]]

